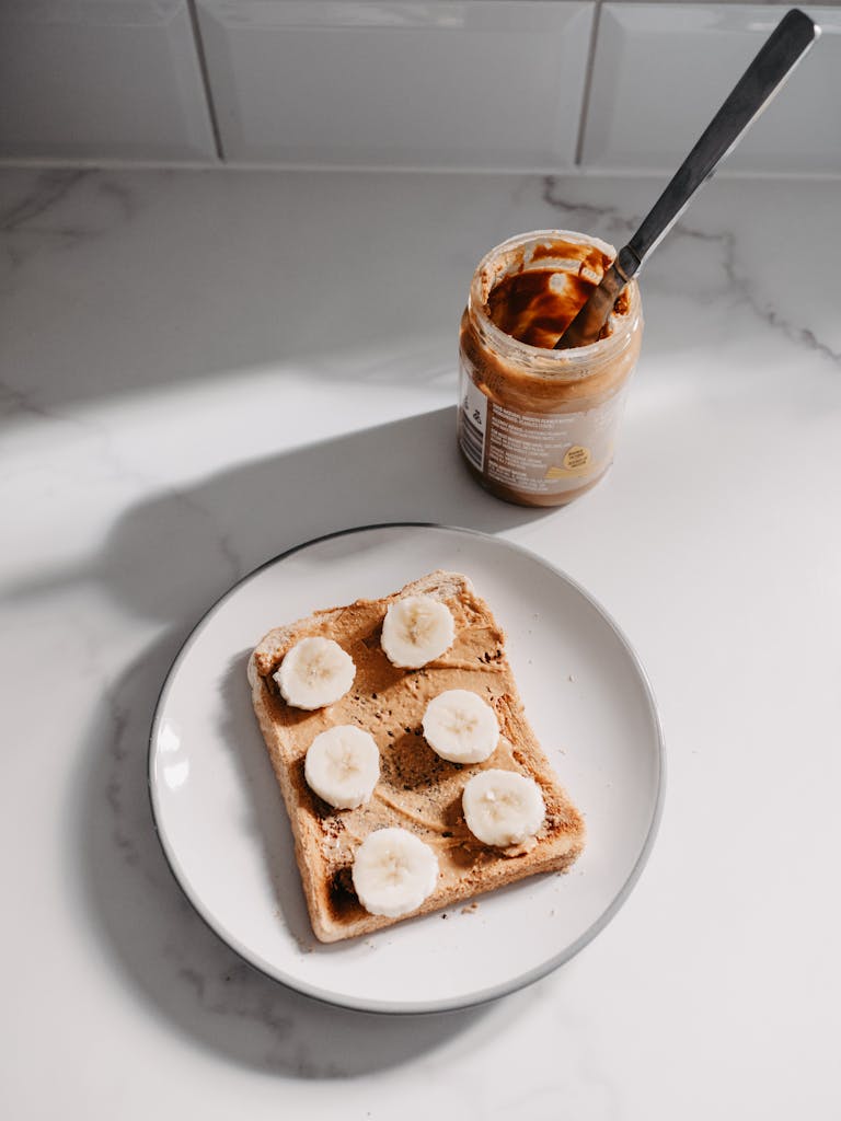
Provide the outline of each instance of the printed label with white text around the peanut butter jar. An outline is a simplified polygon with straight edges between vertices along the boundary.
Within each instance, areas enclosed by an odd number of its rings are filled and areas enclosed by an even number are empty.
[[[463,367],[460,380],[459,443],[489,480],[527,494],[561,494],[609,466],[625,387],[580,413],[520,413],[487,397]]]

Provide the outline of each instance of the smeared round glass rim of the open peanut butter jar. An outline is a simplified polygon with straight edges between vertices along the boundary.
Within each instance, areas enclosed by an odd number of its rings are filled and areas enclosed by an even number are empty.
[[[616,259],[617,254],[613,245],[600,238],[576,230],[532,230],[527,233],[515,234],[489,250],[477,266],[468,294],[468,314],[500,356],[518,362],[525,361],[532,372],[536,374],[577,380],[589,377],[603,363],[613,361],[630,344],[641,316],[641,300],[636,279],[632,279],[626,288],[628,313],[618,318],[621,330],[616,330],[614,326],[614,330],[604,339],[597,339],[595,342],[589,343],[586,346],[575,346],[571,350],[552,350],[521,342],[498,327],[486,308],[488,295],[493,288],[493,285],[488,287],[487,278],[495,261],[518,249],[527,249],[532,243],[537,245],[553,241],[592,245],[609,256],[611,260]],[[500,274],[499,279],[503,275],[503,272]],[[496,282],[499,282],[499,279]]]

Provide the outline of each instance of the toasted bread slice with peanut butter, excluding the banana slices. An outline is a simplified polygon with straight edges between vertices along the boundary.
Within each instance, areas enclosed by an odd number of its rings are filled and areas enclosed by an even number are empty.
[[[422,669],[396,668],[380,647],[386,610],[404,595],[443,600],[455,619],[453,646]],[[353,658],[357,677],[341,701],[304,712],[286,704],[272,674],[286,651],[311,634],[339,642]],[[472,899],[537,872],[565,871],[583,849],[584,823],[526,720],[505,634],[466,576],[433,572],[381,600],[358,600],[279,627],[251,655],[248,677],[292,821],[309,918],[320,941],[369,934],[409,917],[371,915],[353,891],[354,852],[376,828],[410,830],[438,856],[437,887],[413,915]],[[446,762],[423,739],[420,722],[427,703],[450,688],[478,693],[497,714],[500,742],[483,763]],[[334,724],[364,729],[380,750],[380,780],[371,800],[357,809],[333,809],[304,778],[307,748],[315,735]],[[530,843],[490,847],[468,830],[461,808],[464,784],[490,767],[519,771],[539,785],[546,818]]]

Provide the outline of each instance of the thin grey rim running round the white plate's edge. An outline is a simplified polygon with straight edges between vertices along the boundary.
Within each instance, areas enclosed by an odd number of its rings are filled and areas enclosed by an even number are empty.
[[[651,819],[648,824],[646,831],[646,836],[643,842],[643,846],[639,851],[637,860],[634,863],[630,872],[626,877],[619,891],[613,896],[604,910],[599,915],[590,926],[579,935],[573,942],[569,943],[558,954],[555,954],[524,973],[518,973],[515,978],[508,981],[500,982],[496,985],[489,985],[484,989],[472,993],[469,998],[458,997],[452,1000],[434,1000],[434,1001],[398,1001],[398,1002],[386,1002],[380,1000],[362,1000],[351,997],[344,997],[329,990],[320,989],[317,985],[312,985],[306,981],[302,981],[298,978],[284,974],[279,976],[276,973],[270,972],[264,965],[259,964],[253,960],[253,955],[249,955],[248,947],[239,943],[239,939],[232,937],[230,934],[223,934],[216,928],[216,926],[211,921],[210,917],[204,912],[201,906],[201,901],[194,898],[193,892],[190,890],[190,880],[186,874],[179,874],[179,862],[174,852],[170,851],[168,842],[165,836],[165,830],[161,827],[158,817],[158,803],[156,796],[156,784],[153,780],[153,767],[155,761],[155,745],[158,733],[158,724],[161,719],[163,712],[166,707],[166,700],[174,683],[175,676],[181,667],[181,664],[190,654],[191,648],[198,638],[200,632],[203,628],[211,621],[211,619],[219,612],[223,604],[238,591],[238,589],[257,576],[265,568],[269,568],[272,565],[279,564],[281,560],[287,559],[294,554],[302,552],[305,548],[309,548],[313,545],[320,545],[323,541],[333,540],[339,537],[348,537],[351,534],[364,534],[373,532],[376,530],[382,529],[436,529],[443,530],[445,532],[452,534],[464,534],[471,537],[479,537],[484,540],[492,541],[495,545],[502,546],[514,553],[518,553],[533,560],[536,560],[543,567],[547,568],[554,575],[558,576],[561,580],[565,581],[571,587],[573,587],[592,608],[595,609],[598,614],[608,623],[610,629],[613,631],[616,637],[619,639],[621,646],[630,657],[634,668],[636,669],[639,679],[644,687],[645,697],[648,704],[649,715],[651,717],[653,726],[656,732],[656,747],[657,747],[657,776],[656,776],[656,793],[654,809],[651,813]],[[566,962],[571,961],[576,956],[585,946],[588,946],[603,929],[604,927],[616,917],[616,915],[621,910],[626,900],[634,890],[637,881],[639,880],[645,865],[648,863],[648,859],[651,854],[654,843],[657,837],[659,830],[660,819],[663,816],[663,803],[665,797],[665,784],[666,784],[666,748],[665,739],[663,734],[663,721],[660,719],[659,707],[657,705],[657,700],[651,687],[651,683],[643,665],[639,655],[637,654],[634,645],[628,639],[627,634],[622,628],[613,619],[612,614],[607,611],[602,604],[574,577],[570,576],[557,565],[547,560],[540,554],[535,553],[533,549],[527,548],[518,544],[517,541],[510,541],[506,537],[498,537],[495,534],[487,534],[480,529],[470,529],[464,526],[451,526],[442,522],[435,521],[381,521],[381,522],[370,522],[363,526],[350,526],[344,529],[332,530],[327,534],[321,534],[317,537],[312,537],[306,541],[302,541],[298,545],[292,546],[292,548],[285,549],[278,553],[276,556],[269,557],[261,564],[257,565],[255,568],[247,572],[243,576],[240,576],[230,587],[227,589],[216,600],[211,603],[211,605],[203,612],[197,622],[191,628],[186,638],[179,646],[174,658],[172,659],[169,667],[164,675],[164,680],[161,683],[160,689],[158,691],[158,696],[155,702],[155,707],[153,711],[153,719],[149,728],[148,747],[147,747],[147,760],[146,760],[146,785],[147,795],[149,798],[149,807],[151,812],[153,827],[158,843],[160,845],[161,852],[164,853],[164,859],[169,868],[169,871],[178,884],[179,890],[186,898],[187,902],[193,908],[193,911],[202,919],[205,926],[225,945],[229,949],[232,949],[239,957],[241,957],[251,969],[257,970],[264,976],[268,978],[276,984],[284,985],[287,989],[292,989],[294,992],[301,993],[312,1000],[320,1001],[330,1007],[345,1008],[353,1011],[360,1012],[373,1012],[379,1015],[391,1015],[391,1016],[414,1016],[414,1015],[433,1015],[436,1012],[455,1012],[463,1011],[469,1008],[477,1008],[481,1004],[487,1004],[491,1001],[499,1000],[512,992],[518,992],[521,989],[534,984],[542,978],[547,976],[555,970],[560,969]]]

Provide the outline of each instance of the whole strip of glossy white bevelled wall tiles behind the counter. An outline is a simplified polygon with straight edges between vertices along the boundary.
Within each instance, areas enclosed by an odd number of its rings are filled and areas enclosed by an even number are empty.
[[[839,4],[722,174],[841,174]],[[0,158],[669,173],[786,7],[0,0]]]

